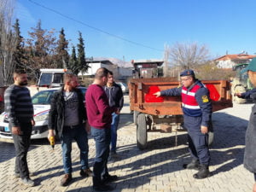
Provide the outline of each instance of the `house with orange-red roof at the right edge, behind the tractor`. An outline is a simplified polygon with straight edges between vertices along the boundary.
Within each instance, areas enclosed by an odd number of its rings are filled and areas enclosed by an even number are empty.
[[[224,55],[214,61],[217,62],[218,68],[232,68],[236,64],[248,63],[256,55],[247,55],[247,54],[236,54],[236,55]]]

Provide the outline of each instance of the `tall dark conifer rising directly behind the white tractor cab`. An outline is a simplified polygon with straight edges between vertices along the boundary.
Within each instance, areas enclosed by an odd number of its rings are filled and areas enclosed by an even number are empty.
[[[67,68],[68,65],[68,52],[67,52],[68,41],[65,38],[64,29],[61,28],[59,40],[56,48],[56,66],[58,68]]]

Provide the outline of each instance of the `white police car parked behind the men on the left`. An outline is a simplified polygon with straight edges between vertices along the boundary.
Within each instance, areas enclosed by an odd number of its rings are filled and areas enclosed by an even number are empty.
[[[36,124],[32,127],[32,139],[46,138],[48,135],[48,115],[50,108],[50,100],[56,90],[60,88],[52,88],[48,90],[41,90],[32,96],[32,104],[34,108],[34,120]],[[79,87],[85,94],[87,88]],[[9,131],[9,119],[7,113],[0,114],[0,138],[12,139]]]

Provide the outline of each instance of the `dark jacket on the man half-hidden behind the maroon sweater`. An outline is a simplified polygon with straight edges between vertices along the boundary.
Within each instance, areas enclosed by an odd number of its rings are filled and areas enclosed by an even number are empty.
[[[110,108],[118,108],[119,111],[123,108],[124,105],[124,96],[123,91],[119,84],[113,82],[112,87],[104,86],[106,95],[108,96],[108,104]]]

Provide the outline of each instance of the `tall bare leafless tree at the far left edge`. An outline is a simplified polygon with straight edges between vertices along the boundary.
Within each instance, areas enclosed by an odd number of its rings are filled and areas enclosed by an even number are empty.
[[[14,52],[16,37],[12,32],[14,0],[0,1],[0,82],[1,85],[11,84],[15,69]]]

